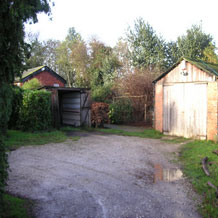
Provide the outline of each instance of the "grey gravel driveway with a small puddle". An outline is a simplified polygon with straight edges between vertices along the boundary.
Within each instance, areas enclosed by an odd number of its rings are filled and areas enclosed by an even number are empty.
[[[9,154],[7,189],[34,200],[36,217],[200,217],[190,187],[170,161],[179,145],[81,134],[76,142],[22,147]]]

